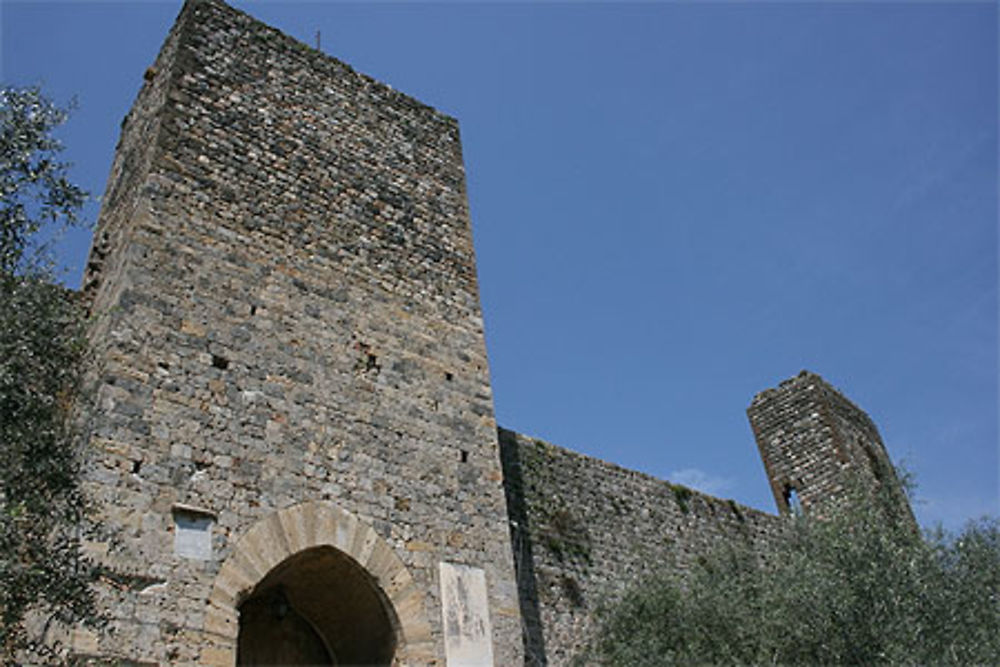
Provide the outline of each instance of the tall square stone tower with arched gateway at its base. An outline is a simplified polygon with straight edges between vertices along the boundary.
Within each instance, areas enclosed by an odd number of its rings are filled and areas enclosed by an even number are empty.
[[[522,661],[454,119],[189,0],[84,290],[111,626],[78,654]]]

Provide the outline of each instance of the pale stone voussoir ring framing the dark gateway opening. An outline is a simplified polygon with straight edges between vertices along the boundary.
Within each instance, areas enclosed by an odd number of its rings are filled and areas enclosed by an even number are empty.
[[[395,631],[393,664],[434,659],[423,594],[406,566],[365,521],[333,504],[306,502],[272,512],[247,531],[222,563],[208,597],[200,663],[235,665],[239,607],[279,565],[335,551],[377,585]]]

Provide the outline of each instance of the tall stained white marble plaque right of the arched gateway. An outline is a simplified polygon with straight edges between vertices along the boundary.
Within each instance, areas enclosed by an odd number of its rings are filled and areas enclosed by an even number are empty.
[[[440,572],[448,667],[493,667],[486,573],[478,567],[445,562]]]

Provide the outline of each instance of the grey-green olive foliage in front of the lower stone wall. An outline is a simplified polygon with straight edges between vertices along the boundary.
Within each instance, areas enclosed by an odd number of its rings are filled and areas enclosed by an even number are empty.
[[[1000,522],[921,536],[898,508],[898,491],[856,497],[823,518],[789,520],[765,554],[729,545],[684,579],[643,582],[605,612],[589,658],[997,664]]]

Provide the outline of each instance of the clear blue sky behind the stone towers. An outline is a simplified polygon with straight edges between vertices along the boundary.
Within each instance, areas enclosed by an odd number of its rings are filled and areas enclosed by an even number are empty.
[[[236,4],[460,120],[501,425],[770,511],[808,368],[925,525],[998,512],[995,3]],[[95,195],[179,8],[0,4]]]

